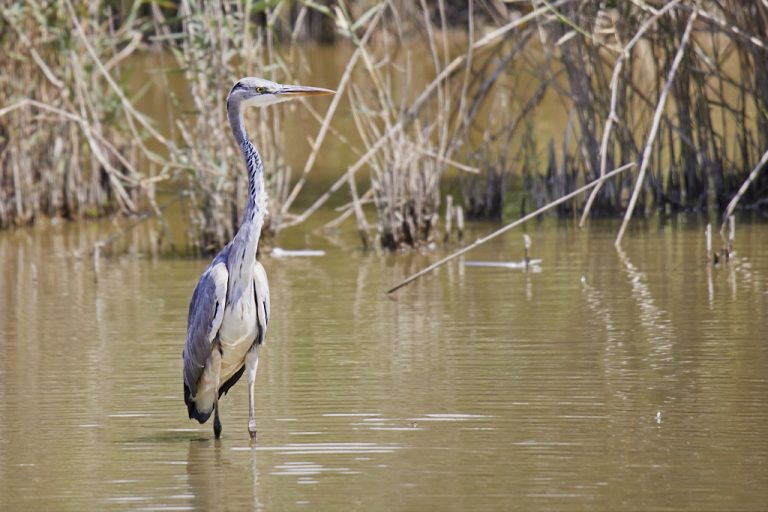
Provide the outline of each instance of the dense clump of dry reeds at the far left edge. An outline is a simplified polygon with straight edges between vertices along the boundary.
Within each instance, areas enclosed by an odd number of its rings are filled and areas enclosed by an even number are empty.
[[[0,16],[0,228],[153,203],[131,114],[101,73],[105,62],[119,75],[136,48],[135,12],[118,24],[106,3],[30,1]]]

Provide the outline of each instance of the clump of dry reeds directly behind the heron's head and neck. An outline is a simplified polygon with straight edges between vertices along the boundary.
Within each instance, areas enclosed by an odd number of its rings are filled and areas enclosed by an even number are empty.
[[[158,38],[173,42],[176,63],[188,89],[186,97],[192,104],[191,109],[180,105],[185,115],[177,118],[176,127],[183,140],[169,145],[169,153],[171,161],[188,172],[188,235],[198,252],[214,253],[226,244],[237,230],[246,204],[247,177],[223,108],[226,92],[241,76],[260,75],[277,82],[291,79],[270,30],[277,14],[267,5],[182,0],[180,30]],[[255,15],[265,16],[266,26],[254,26],[251,20]],[[264,161],[268,210],[272,213],[265,222],[264,248],[279,228],[291,169],[283,159],[282,110],[261,109],[254,119],[257,122],[249,135]]]

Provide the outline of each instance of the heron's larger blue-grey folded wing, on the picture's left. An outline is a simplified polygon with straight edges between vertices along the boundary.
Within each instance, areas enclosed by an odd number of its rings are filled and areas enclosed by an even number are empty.
[[[218,258],[217,258],[218,260]],[[224,261],[211,264],[192,294],[184,343],[184,383],[190,394],[197,393],[197,381],[211,355],[211,344],[221,327],[227,298],[229,272]]]

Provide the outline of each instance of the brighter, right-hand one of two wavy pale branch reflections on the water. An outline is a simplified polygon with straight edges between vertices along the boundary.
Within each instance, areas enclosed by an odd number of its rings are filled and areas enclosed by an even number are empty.
[[[632,286],[632,295],[640,306],[640,320],[643,327],[648,331],[648,341],[653,343],[653,349],[661,360],[668,360],[671,356],[672,324],[669,321],[666,311],[656,306],[653,295],[646,284],[645,274],[637,270],[629,257],[623,250],[617,249],[619,259],[624,264],[624,269],[629,277],[629,284]]]

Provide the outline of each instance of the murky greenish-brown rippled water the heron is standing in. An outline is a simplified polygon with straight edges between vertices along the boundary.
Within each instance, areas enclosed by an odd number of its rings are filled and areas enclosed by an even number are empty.
[[[708,273],[701,226],[531,225],[542,272],[377,256],[264,261],[273,314],[224,437],[182,399],[206,262],[92,261],[96,227],[0,233],[3,510],[764,510],[768,226]],[[480,226],[472,237],[486,232]],[[639,229],[639,228],[638,228]],[[289,238],[293,236],[294,238]],[[519,259],[519,232],[471,259]],[[583,281],[582,281],[583,276]]]

